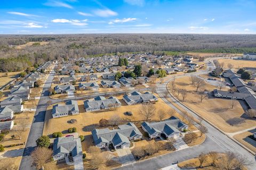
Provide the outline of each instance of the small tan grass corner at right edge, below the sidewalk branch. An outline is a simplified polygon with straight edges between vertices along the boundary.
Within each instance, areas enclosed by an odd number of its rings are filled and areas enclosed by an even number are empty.
[[[253,132],[256,132],[256,129],[236,134],[234,135],[234,138],[245,145],[247,148],[256,152],[256,141],[248,137],[249,135],[252,135]]]

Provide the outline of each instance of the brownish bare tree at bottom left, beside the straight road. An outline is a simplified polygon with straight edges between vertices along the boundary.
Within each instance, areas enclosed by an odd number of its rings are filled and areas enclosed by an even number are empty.
[[[37,147],[32,153],[33,163],[37,168],[44,169],[44,165],[51,161],[52,150],[45,147]]]

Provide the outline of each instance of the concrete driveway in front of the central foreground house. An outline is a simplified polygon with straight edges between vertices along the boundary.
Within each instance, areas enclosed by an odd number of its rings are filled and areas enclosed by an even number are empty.
[[[116,153],[118,154],[118,157],[115,157],[114,159],[117,162],[121,163],[122,166],[129,165],[136,162],[130,148],[117,149]]]

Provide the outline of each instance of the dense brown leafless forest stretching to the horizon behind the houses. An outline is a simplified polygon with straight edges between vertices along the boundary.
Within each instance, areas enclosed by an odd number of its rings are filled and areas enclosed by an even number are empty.
[[[0,37],[0,71],[19,71],[44,61],[131,52],[197,51],[243,53],[256,51],[256,35],[190,34],[87,34],[87,35],[6,35]],[[46,45],[16,48],[28,42]],[[166,53],[168,54],[168,53]]]

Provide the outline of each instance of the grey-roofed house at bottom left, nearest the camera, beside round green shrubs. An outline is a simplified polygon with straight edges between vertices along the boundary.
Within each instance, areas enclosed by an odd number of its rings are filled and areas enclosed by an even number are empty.
[[[66,163],[69,162],[82,162],[83,150],[80,138],[59,137],[53,141],[53,160],[61,162],[63,160]]]

